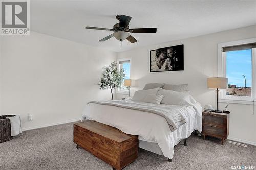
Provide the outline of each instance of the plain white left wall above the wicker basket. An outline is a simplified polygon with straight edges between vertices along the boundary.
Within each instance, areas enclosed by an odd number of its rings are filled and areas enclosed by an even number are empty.
[[[19,114],[23,129],[80,119],[88,101],[111,98],[96,83],[116,53],[35,32],[1,38],[1,114]]]

